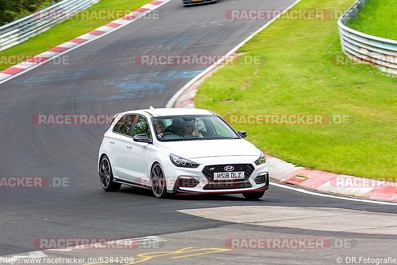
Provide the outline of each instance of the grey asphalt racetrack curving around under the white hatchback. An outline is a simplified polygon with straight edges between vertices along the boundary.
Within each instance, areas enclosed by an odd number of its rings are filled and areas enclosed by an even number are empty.
[[[39,114],[114,114],[150,105],[164,107],[183,85],[207,66],[142,66],[135,64],[135,56],[223,55],[266,23],[228,20],[226,10],[284,9],[292,3],[293,0],[221,0],[217,4],[186,8],[180,0],[172,0],[159,8],[164,14],[162,19],[137,20],[79,47],[66,54],[68,65],[39,66],[0,84],[0,176],[68,178],[68,187],[1,189],[0,255],[37,251],[33,244],[37,238],[146,236],[167,240],[163,248],[167,251],[203,246],[225,248],[225,240],[231,237],[337,237],[355,242],[354,247],[342,251],[240,249],[180,260],[161,257],[142,261],[147,264],[337,264],[338,256],[344,259],[354,255],[395,254],[393,246],[397,236],[389,230],[379,230],[382,223],[376,224],[378,230],[374,233],[353,232],[343,229],[346,222],[343,219],[333,224],[332,232],[317,226],[300,228],[299,224],[235,223],[228,211],[225,220],[178,211],[273,206],[274,210],[268,207],[265,214],[273,215],[279,210],[277,207],[296,207],[302,212],[307,211],[307,207],[315,207],[332,208],[332,211],[351,209],[363,214],[375,212],[372,220],[376,221],[377,214],[397,213],[395,205],[317,197],[274,186],[270,186],[263,199],[256,201],[245,200],[241,195],[159,200],[149,191],[126,186],[120,192],[105,193],[96,163],[106,126],[50,126],[32,122],[32,117]],[[385,220],[390,216],[394,215],[385,215]],[[354,218],[347,220],[354,221]]]

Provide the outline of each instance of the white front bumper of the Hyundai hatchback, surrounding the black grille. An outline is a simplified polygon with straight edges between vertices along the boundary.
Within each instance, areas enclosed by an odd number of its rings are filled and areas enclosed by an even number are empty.
[[[167,191],[171,194],[178,195],[190,195],[190,194],[241,194],[247,192],[262,192],[269,188],[269,174],[267,164],[255,165],[248,161],[253,160],[251,157],[233,157],[228,159],[230,164],[245,163],[251,164],[254,167],[249,178],[241,181],[225,181],[225,182],[214,182],[208,179],[202,173],[202,170],[207,165],[223,165],[225,163],[225,157],[218,159],[211,159],[211,163],[202,163],[198,168],[181,168],[176,167],[173,164],[168,164],[164,167],[164,172],[167,180]],[[246,161],[244,161],[246,160]],[[196,161],[195,161],[196,162]],[[198,161],[199,162],[199,161]],[[201,162],[201,161],[200,161]],[[208,161],[206,161],[208,162]],[[191,177],[197,180],[198,185],[192,188],[181,187],[180,177]],[[262,178],[262,181],[259,179]],[[258,184],[257,184],[258,183]]]

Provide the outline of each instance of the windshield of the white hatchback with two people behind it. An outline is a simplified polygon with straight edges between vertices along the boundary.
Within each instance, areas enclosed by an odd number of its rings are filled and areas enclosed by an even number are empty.
[[[181,115],[152,118],[159,141],[239,139],[216,115]]]

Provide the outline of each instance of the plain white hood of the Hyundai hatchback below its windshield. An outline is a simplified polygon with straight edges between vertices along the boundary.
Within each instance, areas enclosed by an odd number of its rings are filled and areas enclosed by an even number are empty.
[[[170,153],[186,159],[211,156],[260,156],[261,151],[244,139],[161,142]]]

